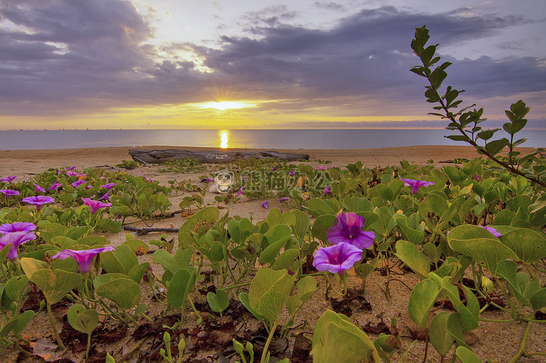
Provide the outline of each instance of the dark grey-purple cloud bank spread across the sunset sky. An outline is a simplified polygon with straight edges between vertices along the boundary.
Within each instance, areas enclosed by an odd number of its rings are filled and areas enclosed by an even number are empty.
[[[409,48],[415,27],[426,24],[430,43],[440,43],[442,53],[527,22],[461,13],[384,7],[360,10],[330,29],[309,29],[290,24],[295,14],[278,6],[248,13],[243,20],[248,36],[222,36],[222,47],[215,49],[148,44],[154,29],[127,1],[3,1],[0,20],[13,27],[0,28],[0,114],[80,114],[209,101],[211,89],[226,87],[246,99],[293,100],[268,104],[272,113],[343,109],[349,103],[351,115],[358,114],[359,104],[370,115],[392,110],[402,115],[419,104],[424,115],[430,111],[422,95],[425,80],[409,72],[419,64]],[[214,72],[202,73],[194,62],[179,59],[179,50],[197,53]],[[454,63],[447,83],[467,90],[470,101],[546,90],[544,59],[444,60]]]

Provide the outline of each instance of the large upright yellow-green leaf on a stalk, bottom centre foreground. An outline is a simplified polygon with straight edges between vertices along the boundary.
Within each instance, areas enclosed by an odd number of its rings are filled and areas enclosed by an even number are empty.
[[[259,269],[248,290],[251,308],[269,322],[279,320],[284,301],[294,285],[294,278],[286,270],[273,271],[268,267]]]

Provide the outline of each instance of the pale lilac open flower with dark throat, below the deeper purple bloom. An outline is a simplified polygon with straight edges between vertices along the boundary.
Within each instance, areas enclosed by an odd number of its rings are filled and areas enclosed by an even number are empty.
[[[343,275],[360,259],[362,259],[360,248],[342,242],[316,250],[313,254],[313,266],[321,272],[329,271]]]

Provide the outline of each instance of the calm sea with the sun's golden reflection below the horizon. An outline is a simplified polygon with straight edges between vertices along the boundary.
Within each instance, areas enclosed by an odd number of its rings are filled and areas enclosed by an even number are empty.
[[[449,131],[444,129],[22,130],[0,131],[0,150],[138,147],[139,145],[268,149],[465,145],[465,143],[444,138],[447,134]],[[519,138],[528,138],[524,146],[546,147],[546,130],[523,130],[519,134]]]

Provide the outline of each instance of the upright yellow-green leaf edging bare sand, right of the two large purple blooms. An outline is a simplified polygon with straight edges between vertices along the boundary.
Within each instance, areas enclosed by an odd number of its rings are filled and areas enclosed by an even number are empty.
[[[426,329],[426,322],[430,310],[434,306],[434,301],[440,292],[440,287],[433,280],[422,280],[415,285],[412,294],[409,296],[407,309],[409,317],[419,325],[421,329]]]

